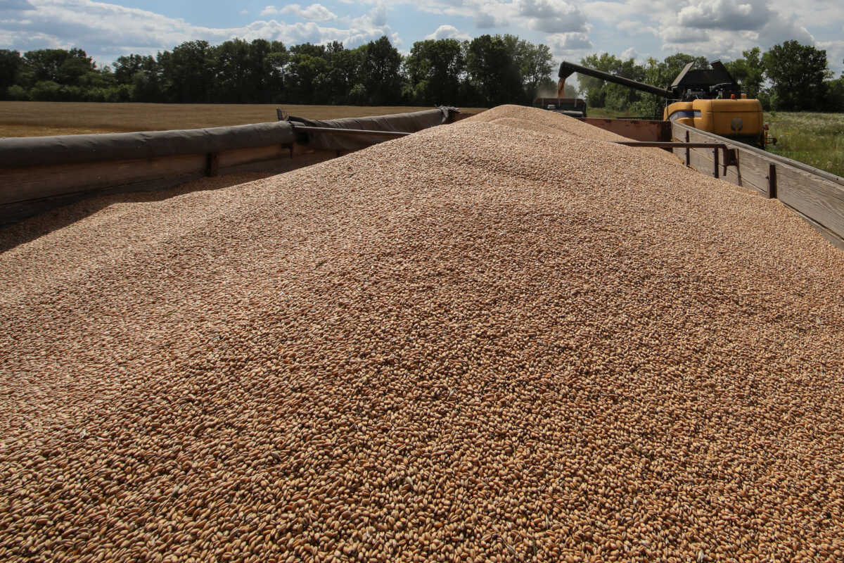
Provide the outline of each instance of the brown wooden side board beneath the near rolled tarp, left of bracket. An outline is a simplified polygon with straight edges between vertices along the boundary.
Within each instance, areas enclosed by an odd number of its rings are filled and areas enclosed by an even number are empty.
[[[184,154],[149,160],[6,168],[0,170],[0,204],[88,192],[158,178],[199,177],[204,176],[207,164],[206,154]]]

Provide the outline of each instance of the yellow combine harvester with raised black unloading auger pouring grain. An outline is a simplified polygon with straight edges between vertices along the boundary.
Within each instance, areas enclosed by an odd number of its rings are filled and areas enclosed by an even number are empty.
[[[668,100],[663,111],[663,120],[683,123],[701,131],[764,149],[769,138],[760,101],[749,100],[720,61],[710,64],[711,69],[693,69],[690,62],[677,78],[674,78],[671,86],[663,89],[579,64],[563,62],[560,65],[558,89],[562,90],[565,78],[572,73],[586,74],[621,84]],[[776,140],[774,142],[776,143]]]

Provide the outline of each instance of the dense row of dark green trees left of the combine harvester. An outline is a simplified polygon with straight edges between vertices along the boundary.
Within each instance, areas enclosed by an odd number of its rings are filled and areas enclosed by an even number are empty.
[[[548,46],[514,35],[417,41],[406,57],[387,37],[285,46],[257,39],[187,41],[98,68],[81,49],[0,50],[6,100],[495,106],[530,103],[551,84]],[[553,84],[552,84],[553,85]]]

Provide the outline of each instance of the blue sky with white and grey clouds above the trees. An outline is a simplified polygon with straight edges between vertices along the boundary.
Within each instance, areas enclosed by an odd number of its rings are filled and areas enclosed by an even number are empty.
[[[272,1],[0,0],[0,48],[80,47],[105,65],[198,39],[355,47],[387,35],[407,53],[414,41],[510,33],[548,45],[555,62],[604,51],[643,62],[676,52],[728,61],[794,39],[844,71],[844,0]]]

